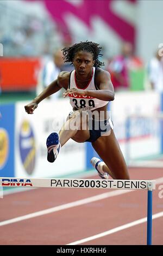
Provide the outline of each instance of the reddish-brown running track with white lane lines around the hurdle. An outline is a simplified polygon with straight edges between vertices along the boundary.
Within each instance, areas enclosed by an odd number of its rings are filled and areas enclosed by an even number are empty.
[[[163,245],[162,169],[130,168],[129,173],[131,180],[159,178],[153,191],[153,245]],[[39,188],[4,195],[0,206],[0,245],[146,245],[146,222],[133,223],[147,216],[146,190]]]

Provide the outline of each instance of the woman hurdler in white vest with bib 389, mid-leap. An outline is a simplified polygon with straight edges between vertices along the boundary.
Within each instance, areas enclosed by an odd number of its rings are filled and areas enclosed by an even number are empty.
[[[114,100],[114,87],[109,72],[100,68],[102,56],[99,44],[80,42],[62,49],[65,62],[74,66],[72,72],[61,72],[43,92],[24,108],[33,114],[37,105],[51,94],[65,88],[64,97],[70,98],[73,111],[59,134],[47,138],[47,159],[54,162],[60,148],[71,138],[77,142],[91,142],[100,159],[93,157],[92,165],[102,178],[128,180],[129,174],[114,134],[112,121],[107,111],[108,103]]]

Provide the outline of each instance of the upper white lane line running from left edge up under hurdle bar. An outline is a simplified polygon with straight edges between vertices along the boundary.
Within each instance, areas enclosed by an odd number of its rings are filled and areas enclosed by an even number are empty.
[[[163,177],[158,178],[155,181],[156,181],[156,184],[160,184],[160,183],[163,182]],[[78,201],[74,201],[72,203],[67,203],[67,204],[64,204],[64,205],[55,206],[55,207],[52,207],[52,208],[49,208],[49,209],[46,209],[46,210],[37,211],[37,212],[29,213],[28,215],[23,215],[23,216],[20,216],[20,217],[16,217],[16,218],[8,219],[6,221],[2,221],[2,222],[0,222],[0,227],[4,226],[4,225],[11,224],[11,223],[24,221],[25,219],[39,217],[39,216],[46,215],[46,214],[49,214],[49,213],[52,213],[52,212],[58,212],[58,211],[69,209],[69,208],[76,207],[76,206],[79,206],[79,205],[89,204],[89,203],[92,203],[92,202],[95,202],[95,201],[98,201],[98,200],[102,200],[102,199],[109,198],[109,197],[115,197],[116,195],[126,194],[126,193],[133,192],[133,191],[135,191],[135,190],[134,189],[122,189],[122,190],[117,189],[117,190],[113,190],[113,191],[106,192],[106,193],[103,193],[103,194],[94,195],[93,197],[90,197],[90,198],[81,199],[81,200],[78,200]]]

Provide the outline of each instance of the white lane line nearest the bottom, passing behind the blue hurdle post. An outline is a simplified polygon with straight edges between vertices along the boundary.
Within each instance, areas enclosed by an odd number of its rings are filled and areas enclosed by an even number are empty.
[[[160,217],[163,217],[163,212],[159,212],[159,213],[154,214],[152,216],[152,219],[156,219],[156,218],[160,218]],[[110,234],[116,233],[116,232],[121,231],[123,229],[133,227],[135,225],[139,225],[139,224],[144,223],[144,222],[147,222],[147,217],[142,218],[142,219],[137,219],[137,221],[129,222],[127,224],[121,225],[119,227],[116,227],[114,229],[110,229],[108,231],[105,231],[103,233],[99,233],[99,234],[94,235],[94,236],[86,237],[85,239],[81,239],[81,240],[78,240],[78,241],[67,243],[67,245],[79,245],[80,243],[85,243],[85,242],[89,242],[91,240],[98,239],[98,238],[103,237],[103,236],[108,236]]]

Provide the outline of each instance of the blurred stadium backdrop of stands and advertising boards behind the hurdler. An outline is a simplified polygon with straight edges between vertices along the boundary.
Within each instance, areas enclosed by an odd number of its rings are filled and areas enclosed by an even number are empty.
[[[129,90],[116,92],[109,106],[115,134],[128,165],[161,156],[162,122],[154,117],[162,110],[162,96],[149,86],[147,63],[162,43],[162,7],[162,1],[136,0],[0,2],[0,176],[73,177],[91,170],[89,160],[96,155],[91,145],[72,140],[54,165],[46,160],[48,134],[71,111],[67,99],[45,100],[32,116],[24,111],[37,94],[46,56],[80,40],[101,44],[104,63],[120,52],[123,41],[134,45],[144,65],[130,73]],[[128,118],[133,114],[139,117]]]

